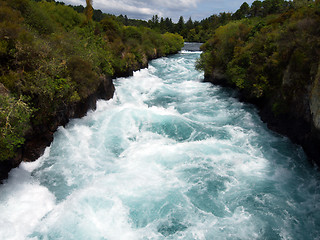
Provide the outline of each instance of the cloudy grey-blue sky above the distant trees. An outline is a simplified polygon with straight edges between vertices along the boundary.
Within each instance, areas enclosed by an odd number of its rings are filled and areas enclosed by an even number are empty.
[[[85,0],[59,0],[71,5],[86,5]],[[104,13],[127,15],[128,18],[149,20],[153,15],[185,20],[202,20],[220,12],[235,12],[245,0],[93,0],[93,8]],[[253,0],[246,1],[249,5]]]

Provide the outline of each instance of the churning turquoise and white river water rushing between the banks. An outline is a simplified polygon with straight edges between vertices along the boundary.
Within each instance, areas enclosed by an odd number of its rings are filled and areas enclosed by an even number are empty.
[[[116,80],[0,186],[0,239],[320,239],[320,174],[197,52]]]

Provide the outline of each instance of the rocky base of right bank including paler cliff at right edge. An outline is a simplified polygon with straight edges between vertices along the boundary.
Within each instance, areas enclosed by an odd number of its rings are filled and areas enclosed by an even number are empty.
[[[217,71],[211,75],[206,74],[204,81],[238,89],[225,79],[224,74]],[[285,81],[283,79],[283,84]],[[271,130],[301,145],[310,162],[320,166],[320,65],[316,78],[310,81],[304,91],[286,103],[285,113],[276,114],[274,109],[277,103],[276,95],[281,91],[283,89],[279,89],[273,96],[257,99],[239,90],[239,100],[254,104],[259,110],[262,121],[267,123]]]

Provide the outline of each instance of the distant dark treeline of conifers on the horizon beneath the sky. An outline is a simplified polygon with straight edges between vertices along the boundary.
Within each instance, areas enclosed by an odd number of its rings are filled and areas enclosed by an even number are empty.
[[[230,21],[240,20],[242,18],[265,17],[270,14],[277,14],[294,9],[297,5],[308,5],[309,2],[312,1],[265,0],[254,1],[251,6],[244,2],[234,13],[222,12],[219,14],[214,14],[201,21],[193,21],[191,17],[186,20],[181,16],[178,22],[174,23],[171,18],[163,18],[159,17],[158,15],[154,15],[149,21],[129,19],[126,15],[119,15],[116,17],[116,20],[125,26],[149,27],[160,33],[178,33],[183,36],[185,41],[205,42],[212,36],[215,29],[217,29],[219,26],[227,24]],[[62,2],[57,3],[64,4]],[[84,13],[85,11],[85,7],[82,5],[71,7],[79,13]],[[96,9],[93,12],[93,19],[95,21],[101,21],[107,16],[111,16],[111,14],[106,14],[101,10]]]

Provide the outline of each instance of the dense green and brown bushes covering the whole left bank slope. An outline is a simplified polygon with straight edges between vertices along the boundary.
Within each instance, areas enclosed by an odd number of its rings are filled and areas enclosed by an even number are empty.
[[[89,1],[90,2],[90,1]],[[0,161],[11,158],[36,126],[96,91],[99,78],[175,53],[181,36],[92,21],[54,1],[0,0]]]

